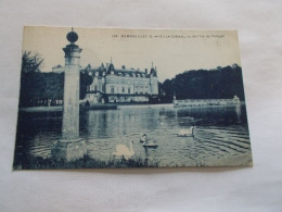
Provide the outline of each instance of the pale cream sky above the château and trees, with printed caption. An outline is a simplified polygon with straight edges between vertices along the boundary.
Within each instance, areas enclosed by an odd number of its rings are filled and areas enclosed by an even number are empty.
[[[23,51],[36,51],[44,59],[43,72],[64,66],[63,49],[69,42],[70,27],[28,26],[24,29]],[[241,65],[235,30],[176,30],[176,29],[93,29],[75,27],[82,52],[80,65],[99,66],[111,57],[116,68],[141,71],[157,67],[159,82],[172,78],[187,70]],[[123,36],[131,37],[123,37]],[[137,37],[139,36],[139,37]]]

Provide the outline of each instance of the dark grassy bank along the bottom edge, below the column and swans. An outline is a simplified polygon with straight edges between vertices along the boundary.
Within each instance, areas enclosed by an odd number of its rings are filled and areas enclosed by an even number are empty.
[[[142,159],[141,157],[132,157],[125,160],[124,158],[111,158],[107,161],[92,159],[89,155],[82,159],[65,162],[53,161],[51,158],[43,159],[41,157],[27,157],[25,160],[15,161],[14,170],[57,170],[57,169],[108,169],[108,167],[158,167],[159,162]]]

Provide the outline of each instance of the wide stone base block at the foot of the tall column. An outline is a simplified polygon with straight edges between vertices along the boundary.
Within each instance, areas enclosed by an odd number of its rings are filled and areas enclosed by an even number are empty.
[[[56,141],[51,149],[51,154],[55,161],[76,161],[87,154],[86,141],[82,138]]]

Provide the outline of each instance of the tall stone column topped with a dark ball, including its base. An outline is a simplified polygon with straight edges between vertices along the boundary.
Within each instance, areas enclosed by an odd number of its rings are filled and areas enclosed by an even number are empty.
[[[51,150],[56,161],[75,161],[87,153],[85,140],[79,138],[79,60],[80,49],[75,42],[78,35],[75,32],[67,34],[70,42],[65,48],[65,80],[64,80],[64,110],[62,139],[54,144]]]

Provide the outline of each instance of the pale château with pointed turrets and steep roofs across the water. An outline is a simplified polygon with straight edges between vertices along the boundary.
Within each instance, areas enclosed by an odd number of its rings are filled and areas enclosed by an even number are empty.
[[[53,72],[63,68],[53,67]],[[103,63],[99,67],[80,67],[81,72],[93,77],[93,83],[88,86],[86,102],[93,103],[141,103],[156,102],[158,97],[157,71],[153,66],[148,71],[126,68],[115,68],[112,59],[111,63]]]

